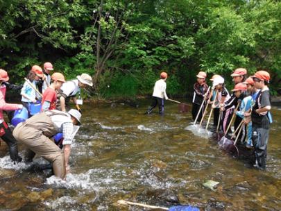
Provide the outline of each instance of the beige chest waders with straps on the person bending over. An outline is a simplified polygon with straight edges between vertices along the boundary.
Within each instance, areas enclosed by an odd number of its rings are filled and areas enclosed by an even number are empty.
[[[18,124],[13,135],[27,148],[26,161],[32,161],[35,154],[42,156],[51,162],[53,173],[58,178],[65,178],[65,155],[63,151],[50,140],[50,137],[58,133],[58,128],[51,121],[53,115],[64,115],[56,112],[46,115],[42,112],[31,119]],[[66,114],[65,114],[66,115]]]

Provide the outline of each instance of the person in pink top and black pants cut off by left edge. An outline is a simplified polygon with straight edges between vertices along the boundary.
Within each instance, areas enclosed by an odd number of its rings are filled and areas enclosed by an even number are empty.
[[[10,159],[14,162],[21,162],[22,158],[19,156],[17,151],[17,140],[15,140],[15,137],[12,136],[12,131],[3,119],[3,110],[18,110],[22,109],[23,105],[6,103],[6,85],[3,85],[2,83],[7,81],[9,81],[7,72],[0,69],[0,137],[8,145]]]

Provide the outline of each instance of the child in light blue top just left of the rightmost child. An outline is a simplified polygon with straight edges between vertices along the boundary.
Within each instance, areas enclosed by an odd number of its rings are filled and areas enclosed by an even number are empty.
[[[246,96],[247,91],[247,85],[244,83],[237,83],[235,85],[235,88],[232,90],[232,92],[235,93],[235,96],[237,99],[241,98],[244,96],[244,98],[241,101],[241,104],[239,106],[239,110],[235,111],[235,114],[237,115],[236,117],[240,117],[241,119],[244,119],[244,114],[245,112],[249,112],[251,109],[251,104],[252,104],[252,96]],[[246,125],[242,124],[242,133],[240,133],[240,142],[243,144],[245,139],[246,139]],[[239,133],[240,128],[238,129],[237,134]]]

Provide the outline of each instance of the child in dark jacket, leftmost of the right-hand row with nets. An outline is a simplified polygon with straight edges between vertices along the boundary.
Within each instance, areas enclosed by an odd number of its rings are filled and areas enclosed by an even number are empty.
[[[207,90],[208,90],[208,85],[205,83],[206,78],[207,78],[207,74],[205,74],[205,72],[203,71],[199,71],[199,73],[196,75],[197,77],[197,82],[194,83],[194,95],[193,95],[193,99],[192,99],[192,119],[193,121],[195,121],[198,112],[201,108],[201,104],[204,101],[204,98],[207,94]],[[206,104],[206,103],[205,103]],[[203,105],[200,114],[198,115],[198,121],[201,121],[202,119],[202,115],[203,115],[203,111],[205,106]]]

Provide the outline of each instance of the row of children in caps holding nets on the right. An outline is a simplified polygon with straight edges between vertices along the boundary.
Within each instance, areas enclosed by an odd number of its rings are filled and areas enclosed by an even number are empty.
[[[230,94],[222,76],[212,76],[210,79],[212,88],[209,91],[206,84],[207,75],[202,71],[199,72],[197,82],[194,84],[192,117],[195,120],[198,115],[198,121],[201,121],[205,108],[208,104],[212,104],[214,127],[221,128],[227,135],[232,132],[230,128],[232,115],[236,115],[234,128],[237,139],[246,147],[254,148],[255,167],[265,169],[269,125],[272,122],[269,112],[271,110],[268,87],[270,75],[263,70],[257,71],[248,78],[246,75],[246,69],[235,69],[231,74],[235,85]],[[199,111],[201,105],[203,109]]]

